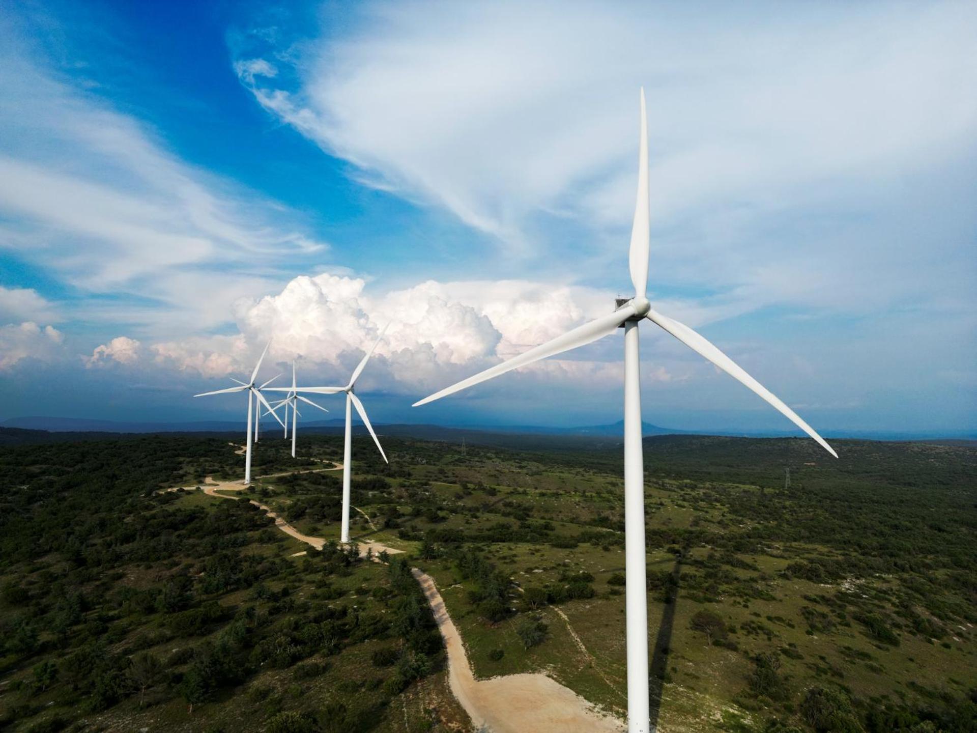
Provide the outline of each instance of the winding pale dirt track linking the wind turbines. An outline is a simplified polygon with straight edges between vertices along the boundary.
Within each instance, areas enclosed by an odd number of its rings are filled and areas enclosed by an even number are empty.
[[[335,471],[342,467],[339,465],[315,470]],[[283,475],[285,474],[278,473],[259,478],[268,479]],[[200,488],[207,496],[238,500],[237,496],[227,496],[217,492],[239,492],[245,487],[239,481],[216,482],[208,476],[205,484]],[[166,491],[175,492],[178,489]],[[185,489],[192,491],[196,487]],[[325,539],[303,535],[265,504],[254,499],[250,501],[272,517],[276,527],[286,535],[306,542],[316,549],[322,548]],[[369,516],[359,507],[354,508],[366,517],[366,521],[373,527]],[[392,555],[403,552],[379,542],[360,542],[361,555],[365,555],[369,549],[373,550],[375,561],[378,561],[377,555],[383,550]],[[528,733],[529,731],[532,733],[620,733],[624,730],[623,724],[615,717],[598,711],[573,690],[545,674],[507,674],[483,680],[476,679],[468,663],[468,654],[465,652],[461,634],[458,633],[458,629],[447,613],[445,601],[438,592],[434,579],[418,568],[412,568],[410,572],[424,590],[424,595],[431,604],[435,621],[445,639],[447,675],[451,693],[472,718],[477,728],[487,733]],[[580,643],[582,645],[582,642]]]

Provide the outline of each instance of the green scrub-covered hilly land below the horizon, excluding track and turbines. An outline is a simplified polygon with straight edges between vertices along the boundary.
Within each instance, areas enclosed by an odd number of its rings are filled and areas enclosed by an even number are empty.
[[[442,589],[476,673],[545,671],[624,710],[619,446],[381,436],[354,535]],[[977,450],[646,439],[653,707],[671,731],[974,731]],[[341,484],[266,438],[260,498],[338,538]],[[408,565],[319,553],[245,501],[227,439],[0,449],[0,724],[13,730],[464,730]],[[789,468],[789,485],[786,485]]]

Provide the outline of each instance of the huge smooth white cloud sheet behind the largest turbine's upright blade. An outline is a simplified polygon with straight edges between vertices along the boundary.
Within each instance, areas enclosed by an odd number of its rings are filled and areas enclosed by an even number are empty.
[[[972,167],[943,171],[977,130],[961,93],[977,84],[975,6],[710,7],[370,4],[338,34],[243,49],[238,74],[358,180],[548,276],[621,283],[645,85],[653,290],[704,288],[733,313],[885,308],[920,281],[972,302]],[[274,75],[250,70],[266,57]],[[948,207],[968,234],[932,226]]]

